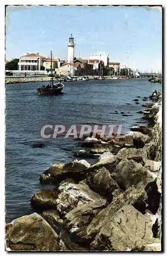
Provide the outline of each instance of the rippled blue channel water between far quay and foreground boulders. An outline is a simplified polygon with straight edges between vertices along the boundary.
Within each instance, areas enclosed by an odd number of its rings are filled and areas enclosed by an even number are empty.
[[[92,80],[66,82],[64,93],[37,96],[41,83],[19,83],[6,86],[6,222],[34,210],[31,196],[40,188],[40,174],[54,162],[73,160],[80,149],[74,138],[43,139],[40,130],[46,124],[123,124],[125,130],[143,124],[142,96],[149,96],[161,84],[148,79]],[[47,84],[47,82],[42,82]],[[141,96],[140,104],[132,99]],[[146,101],[148,102],[148,101]],[[127,105],[126,103],[131,103]],[[112,114],[117,111],[118,114]],[[132,116],[122,116],[121,112]],[[32,143],[44,147],[32,148]],[[91,163],[91,160],[88,160]]]

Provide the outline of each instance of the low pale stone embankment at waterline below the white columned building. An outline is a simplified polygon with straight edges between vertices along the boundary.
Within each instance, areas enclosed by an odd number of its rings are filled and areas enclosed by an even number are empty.
[[[23,82],[43,82],[50,81],[51,77],[6,77],[5,82],[8,83],[23,83]]]

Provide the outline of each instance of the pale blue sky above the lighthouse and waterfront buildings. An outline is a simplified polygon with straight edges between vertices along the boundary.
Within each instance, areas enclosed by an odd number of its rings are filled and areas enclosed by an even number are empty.
[[[140,72],[162,69],[162,13],[151,7],[8,6],[6,60],[27,53],[67,59],[73,33],[75,57],[109,54]]]

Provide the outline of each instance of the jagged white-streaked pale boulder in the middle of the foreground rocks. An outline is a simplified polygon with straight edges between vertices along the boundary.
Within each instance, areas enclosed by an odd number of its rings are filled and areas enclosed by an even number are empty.
[[[88,202],[101,202],[101,197],[92,191],[85,182],[79,184],[63,182],[59,186],[60,194],[56,199],[57,210],[61,215],[66,215],[70,210]]]

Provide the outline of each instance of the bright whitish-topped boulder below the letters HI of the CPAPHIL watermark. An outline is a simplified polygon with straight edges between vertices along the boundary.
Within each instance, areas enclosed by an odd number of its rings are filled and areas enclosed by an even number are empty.
[[[104,153],[95,164],[91,165],[87,169],[87,172],[90,174],[90,172],[93,172],[94,170],[105,167],[109,170],[110,173],[112,173],[117,163],[118,163],[118,158],[116,156],[114,156],[111,153]]]

